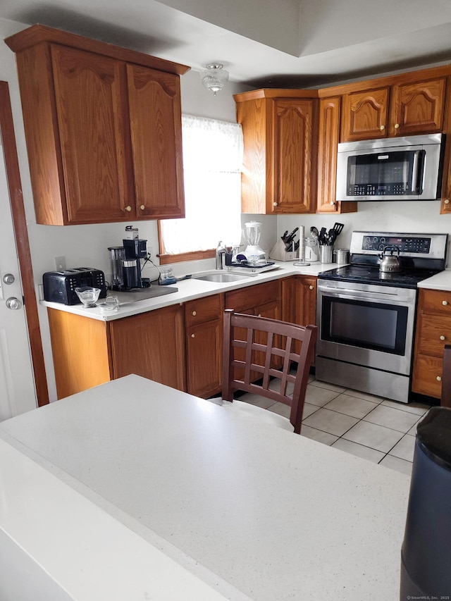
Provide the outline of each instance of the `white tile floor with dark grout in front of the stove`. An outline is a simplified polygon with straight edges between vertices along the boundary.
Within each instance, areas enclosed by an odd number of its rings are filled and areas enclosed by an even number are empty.
[[[245,394],[240,400],[285,417],[290,408],[271,399]],[[398,403],[310,378],[301,435],[325,445],[410,474],[416,423],[429,409],[421,403]]]

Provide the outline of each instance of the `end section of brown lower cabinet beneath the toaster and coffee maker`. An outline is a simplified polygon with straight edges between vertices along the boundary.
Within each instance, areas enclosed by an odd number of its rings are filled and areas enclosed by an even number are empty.
[[[130,373],[186,390],[180,304],[114,321],[48,314],[58,399]]]

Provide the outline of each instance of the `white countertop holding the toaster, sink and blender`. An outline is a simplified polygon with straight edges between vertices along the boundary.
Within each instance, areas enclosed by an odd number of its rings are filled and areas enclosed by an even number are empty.
[[[280,278],[288,278],[290,275],[318,275],[322,271],[328,271],[339,267],[336,263],[320,263],[319,261],[311,263],[309,266],[297,267],[293,265],[294,261],[276,261],[278,269],[273,271],[265,271],[257,275],[249,275],[246,280],[239,280],[237,282],[228,283],[216,283],[206,282],[204,280],[196,280],[190,278],[189,280],[181,280],[175,284],[171,284],[171,287],[177,287],[178,292],[173,292],[169,295],[163,295],[155,297],[153,299],[145,299],[142,301],[133,302],[127,305],[121,305],[117,313],[102,313],[99,307],[92,309],[83,309],[81,304],[65,305],[57,302],[41,301],[41,304],[49,307],[50,309],[58,309],[59,311],[66,311],[75,315],[81,315],[83,317],[89,317],[100,321],[111,321],[113,319],[121,319],[123,317],[129,317],[147,311],[153,311],[154,309],[161,309],[163,306],[169,306],[171,304],[178,304],[181,302],[187,302],[192,299],[206,297],[209,295],[215,295],[220,292],[228,292],[229,290],[237,290],[247,286],[255,284],[262,284],[264,282],[271,282],[271,280],[278,280]],[[210,270],[214,272],[215,270]],[[202,273],[210,273],[202,272]],[[193,273],[192,275],[196,275]],[[111,292],[114,294],[114,292]],[[126,294],[126,293],[125,293]]]

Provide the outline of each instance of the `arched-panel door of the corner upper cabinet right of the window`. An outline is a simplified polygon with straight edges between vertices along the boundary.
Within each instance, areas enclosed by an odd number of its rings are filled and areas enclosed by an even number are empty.
[[[311,213],[316,194],[316,103],[273,101],[273,202],[275,213]]]

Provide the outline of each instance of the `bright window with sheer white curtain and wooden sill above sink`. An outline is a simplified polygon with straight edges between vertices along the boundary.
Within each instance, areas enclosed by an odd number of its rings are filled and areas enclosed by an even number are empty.
[[[237,123],[183,115],[185,218],[159,221],[160,262],[213,256],[241,240],[242,131]]]

